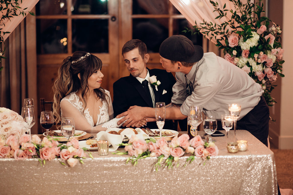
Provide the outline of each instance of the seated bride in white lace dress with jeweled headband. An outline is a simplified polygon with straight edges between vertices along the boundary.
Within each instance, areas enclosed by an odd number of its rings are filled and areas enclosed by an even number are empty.
[[[56,124],[63,117],[73,117],[76,130],[88,133],[118,127],[110,92],[100,87],[101,68],[98,57],[83,51],[64,59],[53,86]]]

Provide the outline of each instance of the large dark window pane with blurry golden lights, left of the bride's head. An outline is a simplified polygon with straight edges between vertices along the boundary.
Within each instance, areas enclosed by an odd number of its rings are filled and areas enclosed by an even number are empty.
[[[67,53],[67,20],[37,19],[38,54]]]

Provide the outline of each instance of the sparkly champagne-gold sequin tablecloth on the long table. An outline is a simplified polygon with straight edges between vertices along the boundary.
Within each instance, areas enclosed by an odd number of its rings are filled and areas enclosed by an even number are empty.
[[[249,132],[236,133],[237,139],[248,141],[247,151],[228,153],[226,136],[213,137],[219,156],[205,165],[196,158],[183,167],[188,158],[183,156],[179,167],[158,172],[155,157],[133,166],[125,164],[126,155],[99,156],[97,151],[92,151],[94,159],[73,168],[58,159],[42,167],[36,158],[0,158],[0,194],[277,194],[273,152]]]

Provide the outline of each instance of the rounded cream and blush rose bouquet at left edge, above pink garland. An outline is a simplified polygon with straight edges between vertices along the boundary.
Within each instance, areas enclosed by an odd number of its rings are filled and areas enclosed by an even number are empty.
[[[8,109],[0,108],[0,138],[3,140],[8,139],[11,135],[14,135],[19,139],[25,134],[28,128],[28,124],[24,122],[21,115]]]

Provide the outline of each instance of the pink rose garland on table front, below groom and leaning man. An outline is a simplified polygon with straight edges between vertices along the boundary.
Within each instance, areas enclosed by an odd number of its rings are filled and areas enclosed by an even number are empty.
[[[127,159],[126,163],[131,161],[133,165],[136,165],[139,159],[157,157],[158,162],[155,164],[155,170],[158,171],[158,167],[161,166],[163,162],[163,157],[166,158],[164,162],[165,166],[172,168],[173,161],[178,161],[176,166],[179,166],[179,157],[183,156],[185,153],[189,153],[191,156],[186,159],[184,166],[186,166],[188,162],[191,163],[195,157],[200,157],[206,162],[211,156],[217,156],[219,153],[218,147],[213,142],[204,142],[199,135],[190,139],[190,141],[188,139],[189,136],[187,134],[183,134],[180,137],[176,135],[173,137],[172,141],[168,143],[164,137],[161,137],[159,140],[154,138],[142,140],[132,135],[128,143],[120,144],[120,146],[125,146],[125,152],[113,152],[113,154],[128,154],[131,157]]]

